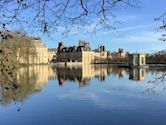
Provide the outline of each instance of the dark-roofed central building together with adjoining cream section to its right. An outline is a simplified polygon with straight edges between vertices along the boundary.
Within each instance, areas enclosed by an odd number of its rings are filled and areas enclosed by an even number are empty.
[[[104,46],[91,50],[88,42],[79,41],[78,46],[65,47],[63,42],[59,43],[57,61],[66,64],[92,64],[107,62],[107,51]]]

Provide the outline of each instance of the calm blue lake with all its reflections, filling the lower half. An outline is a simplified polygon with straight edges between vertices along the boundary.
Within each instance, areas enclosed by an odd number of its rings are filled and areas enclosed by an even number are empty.
[[[17,88],[0,85],[0,125],[166,125],[165,81],[156,79],[163,73],[108,65],[20,68]]]

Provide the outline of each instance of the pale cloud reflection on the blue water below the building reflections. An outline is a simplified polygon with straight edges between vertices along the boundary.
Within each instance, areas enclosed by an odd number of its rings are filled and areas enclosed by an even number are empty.
[[[104,95],[103,95],[104,94]],[[107,96],[105,96],[107,95]],[[123,95],[123,99],[121,96]],[[116,96],[116,98],[115,98]],[[103,109],[113,109],[113,108],[135,108],[138,106],[132,101],[126,101],[127,98],[137,98],[144,99],[144,96],[137,96],[135,94],[128,93],[127,90],[124,91],[110,91],[110,90],[100,90],[100,91],[68,91],[63,95],[59,96],[59,99],[72,99],[72,100],[84,100],[91,101],[96,106]]]

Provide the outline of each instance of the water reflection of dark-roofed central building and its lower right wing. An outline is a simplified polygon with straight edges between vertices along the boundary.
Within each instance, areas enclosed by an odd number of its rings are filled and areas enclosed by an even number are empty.
[[[55,69],[60,86],[63,86],[65,81],[73,81],[78,82],[80,88],[90,84],[92,78],[102,82],[108,75],[123,78],[128,74],[128,69],[111,65],[61,66]]]

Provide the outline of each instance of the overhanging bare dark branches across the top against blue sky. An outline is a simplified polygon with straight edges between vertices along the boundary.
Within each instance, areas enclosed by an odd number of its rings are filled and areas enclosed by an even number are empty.
[[[1,0],[1,28],[40,32],[114,28],[114,10],[137,7],[139,0]],[[13,27],[13,24],[15,27]]]

